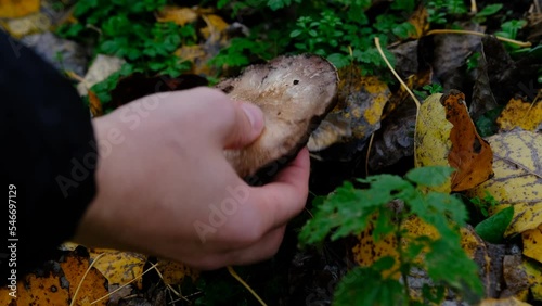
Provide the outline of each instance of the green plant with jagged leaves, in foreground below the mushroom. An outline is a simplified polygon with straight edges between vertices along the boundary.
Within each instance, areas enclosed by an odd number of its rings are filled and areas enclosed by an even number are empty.
[[[299,233],[301,246],[318,244],[327,237],[337,240],[373,228],[373,239],[393,237],[397,256],[385,256],[369,267],[357,267],[337,285],[335,305],[427,305],[444,298],[452,289],[468,303],[482,295],[478,266],[461,248],[459,229],[467,213],[455,196],[430,191],[453,173],[449,167],[423,167],[404,178],[377,175],[358,179],[364,188],[345,182],[314,203],[313,218]],[[393,208],[390,202],[402,203]],[[403,225],[420,218],[438,231],[437,238],[413,234]],[[404,243],[403,243],[404,242]],[[431,285],[422,290],[421,299],[410,294],[409,273],[426,271]],[[400,276],[397,279],[395,276]]]

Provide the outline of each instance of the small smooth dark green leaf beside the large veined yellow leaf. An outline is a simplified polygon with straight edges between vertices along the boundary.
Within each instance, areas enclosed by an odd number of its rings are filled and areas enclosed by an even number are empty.
[[[491,243],[502,243],[504,232],[514,217],[514,206],[506,207],[475,227],[475,231],[483,240]]]

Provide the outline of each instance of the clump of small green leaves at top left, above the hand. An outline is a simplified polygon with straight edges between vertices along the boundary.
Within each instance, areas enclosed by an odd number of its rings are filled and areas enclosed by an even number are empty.
[[[75,40],[92,41],[94,53],[124,58],[134,69],[178,76],[190,68],[173,52],[182,44],[195,43],[192,24],[155,22],[154,12],[166,0],[80,0],[74,7],[78,23],[66,24],[57,34]]]

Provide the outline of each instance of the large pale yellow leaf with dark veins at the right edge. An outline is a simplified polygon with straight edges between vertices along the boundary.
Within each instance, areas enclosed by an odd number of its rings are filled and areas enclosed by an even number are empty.
[[[494,177],[468,190],[470,197],[491,193],[499,205],[514,205],[514,218],[505,235],[511,237],[542,224],[542,135],[515,129],[487,138],[494,154]]]

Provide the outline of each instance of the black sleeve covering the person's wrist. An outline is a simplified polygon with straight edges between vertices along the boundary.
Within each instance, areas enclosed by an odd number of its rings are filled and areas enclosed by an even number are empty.
[[[89,110],[74,86],[1,30],[0,104],[5,283],[53,259],[73,237],[95,194],[98,154]]]

